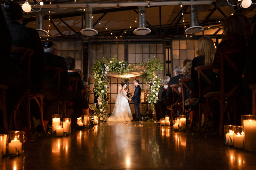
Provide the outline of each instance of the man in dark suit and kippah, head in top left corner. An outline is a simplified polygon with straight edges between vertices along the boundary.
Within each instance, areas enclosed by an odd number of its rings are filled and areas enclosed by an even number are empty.
[[[44,77],[46,59],[41,39],[35,29],[21,24],[23,20],[23,10],[20,4],[7,1],[3,5],[3,11],[6,23],[12,35],[12,46],[31,48],[35,51],[34,55],[31,56],[30,78],[33,90],[45,95],[44,101],[47,104],[44,108],[44,125],[47,126],[47,123],[52,120],[52,114],[56,112],[61,93],[49,79]],[[18,63],[20,58],[21,56],[11,55],[11,59],[14,63]],[[22,68],[26,69],[25,66]],[[39,118],[38,115],[34,116]]]

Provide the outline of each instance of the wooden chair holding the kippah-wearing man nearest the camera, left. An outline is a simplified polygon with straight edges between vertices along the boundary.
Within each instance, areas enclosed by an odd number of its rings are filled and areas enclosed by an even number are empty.
[[[27,72],[28,77],[30,77],[30,61],[31,61],[31,55],[33,55],[33,54],[34,54],[34,50],[30,49],[30,48],[12,47],[12,49],[11,49],[11,55],[20,55],[21,56],[19,62],[17,63],[18,66],[21,66],[21,65],[25,64],[25,62],[26,62],[26,64],[27,64],[26,65],[26,67],[27,67],[26,72]],[[44,127],[44,121],[42,120],[42,117],[43,117],[43,102],[42,102],[43,98],[44,98],[43,94],[36,93],[36,92],[29,92],[29,94],[26,98],[27,99],[26,100],[26,105],[27,105],[26,122],[27,122],[27,128],[28,128],[28,131],[27,131],[27,133],[28,133],[27,134],[28,135],[27,139],[28,140],[33,139],[33,134],[32,134],[32,131],[31,131],[30,101],[31,100],[36,100],[37,104],[40,105],[39,110],[40,110],[41,124]],[[20,106],[20,104],[19,104],[19,106]],[[15,119],[18,107],[15,109],[13,115],[11,116],[9,129],[11,127],[12,119],[13,119],[13,122],[14,122],[15,129],[17,130],[17,128],[18,128],[17,123],[16,123],[16,119]],[[45,129],[44,129],[44,132],[46,133]]]

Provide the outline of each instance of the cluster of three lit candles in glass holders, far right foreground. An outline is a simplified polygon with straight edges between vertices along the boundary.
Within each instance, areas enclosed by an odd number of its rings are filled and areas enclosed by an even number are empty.
[[[225,144],[256,151],[256,115],[242,115],[242,126],[225,125]]]

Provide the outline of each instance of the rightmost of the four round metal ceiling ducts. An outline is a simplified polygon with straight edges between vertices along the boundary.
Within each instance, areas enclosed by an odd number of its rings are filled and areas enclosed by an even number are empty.
[[[191,0],[193,1],[193,0]],[[190,27],[186,29],[186,33],[195,34],[204,31],[204,27],[198,26],[198,10],[197,5],[190,5]]]

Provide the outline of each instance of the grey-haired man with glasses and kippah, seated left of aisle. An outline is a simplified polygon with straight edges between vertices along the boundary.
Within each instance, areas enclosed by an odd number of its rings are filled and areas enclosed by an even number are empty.
[[[65,59],[61,56],[58,56],[58,45],[55,42],[48,41],[44,45],[44,52],[47,58],[48,66],[63,68],[63,71],[60,74],[60,92],[62,94],[61,100],[75,102],[71,122],[74,128],[78,129],[79,127],[76,126],[76,119],[81,117],[83,108],[85,109],[84,115],[89,115],[89,104],[82,94],[69,90],[68,69]]]

